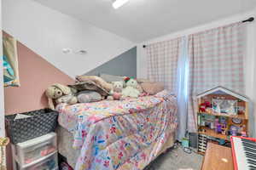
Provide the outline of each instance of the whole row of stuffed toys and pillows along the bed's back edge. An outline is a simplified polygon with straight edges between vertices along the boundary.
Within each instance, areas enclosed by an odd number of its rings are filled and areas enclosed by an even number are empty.
[[[140,82],[130,77],[124,77],[117,82],[106,82],[101,77],[79,76],[73,85],[55,83],[46,89],[45,94],[49,100],[49,108],[55,110],[55,105],[66,103],[90,103],[108,100],[123,100],[125,98],[138,98],[148,94],[156,94],[162,88],[152,82]],[[152,90],[153,89],[153,90]],[[155,90],[156,89],[156,90]]]

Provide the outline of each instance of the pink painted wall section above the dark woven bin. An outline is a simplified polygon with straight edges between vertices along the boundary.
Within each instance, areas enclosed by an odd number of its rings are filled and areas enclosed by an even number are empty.
[[[44,91],[49,85],[55,82],[61,84],[74,82],[73,78],[49,64],[48,61],[26,48],[22,43],[18,42],[17,48],[20,87],[4,88],[6,115],[45,108],[48,105],[48,100]]]

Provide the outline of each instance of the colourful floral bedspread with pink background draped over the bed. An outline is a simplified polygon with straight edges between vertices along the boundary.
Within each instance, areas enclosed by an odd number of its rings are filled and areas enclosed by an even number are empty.
[[[59,123],[74,135],[76,170],[138,170],[158,156],[177,127],[176,97],[162,91],[123,101],[58,105]]]

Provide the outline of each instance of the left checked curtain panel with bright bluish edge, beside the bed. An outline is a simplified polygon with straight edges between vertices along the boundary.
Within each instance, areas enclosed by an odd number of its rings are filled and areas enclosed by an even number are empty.
[[[177,96],[177,139],[182,139],[187,130],[188,94],[188,41],[178,37],[169,41],[148,45],[148,79],[163,82],[165,88]]]

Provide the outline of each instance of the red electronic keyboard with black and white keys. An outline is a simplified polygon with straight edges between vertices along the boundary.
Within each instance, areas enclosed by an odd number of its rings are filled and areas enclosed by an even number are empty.
[[[256,170],[256,139],[231,137],[235,170]]]

